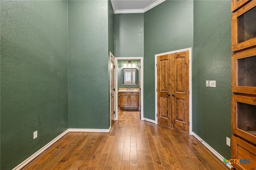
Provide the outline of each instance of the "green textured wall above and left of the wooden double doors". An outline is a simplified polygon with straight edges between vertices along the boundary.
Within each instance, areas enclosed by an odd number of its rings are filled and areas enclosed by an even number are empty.
[[[155,120],[155,54],[193,47],[193,1],[164,1],[144,13],[144,117]]]

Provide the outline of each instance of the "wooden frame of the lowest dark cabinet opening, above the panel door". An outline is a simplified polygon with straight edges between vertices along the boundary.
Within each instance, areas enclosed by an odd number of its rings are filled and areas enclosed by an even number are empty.
[[[231,95],[231,129],[234,134],[256,144],[256,136],[238,128],[237,103],[256,105],[256,97]],[[256,114],[256,113],[255,113]],[[256,115],[255,115],[256,116]]]

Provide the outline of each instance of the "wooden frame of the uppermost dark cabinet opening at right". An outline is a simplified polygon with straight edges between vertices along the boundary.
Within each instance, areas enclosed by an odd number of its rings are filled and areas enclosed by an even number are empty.
[[[252,47],[256,45],[256,38],[252,38],[250,40],[238,43],[238,21],[237,18],[241,16],[242,14],[248,12],[252,8],[256,7],[256,0],[250,1],[250,3],[246,4],[234,14],[232,14],[231,17],[231,51],[238,51],[241,49],[246,49],[248,47]]]

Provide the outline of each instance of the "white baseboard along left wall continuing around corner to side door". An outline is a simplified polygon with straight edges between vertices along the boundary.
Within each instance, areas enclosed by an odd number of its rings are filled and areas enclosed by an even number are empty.
[[[44,147],[39,149],[36,153],[32,154],[29,158],[24,160],[22,163],[20,163],[18,166],[16,166],[12,170],[20,170],[20,169],[24,168],[24,166],[26,166],[28,163],[30,163],[32,160],[34,160],[34,158],[36,158],[38,155],[42,154],[47,148],[52,146],[52,144],[57,142],[57,140],[59,140],[62,136],[64,136],[68,132],[110,132],[110,129],[111,129],[111,127],[108,129],[69,128],[65,132],[63,132],[62,134],[60,134],[59,136],[54,138],[52,141],[50,141],[48,144],[46,144]]]

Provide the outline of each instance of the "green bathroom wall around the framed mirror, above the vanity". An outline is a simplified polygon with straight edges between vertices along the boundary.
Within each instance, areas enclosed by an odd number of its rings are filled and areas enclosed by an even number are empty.
[[[117,78],[118,78],[118,82],[117,82],[117,86],[118,86],[118,90],[119,88],[139,88],[139,60],[129,60],[134,62],[134,64],[136,65],[136,67],[132,67],[132,68],[136,68],[136,85],[123,85],[123,68],[124,68],[124,62],[127,62],[128,60],[117,60]],[[127,68],[127,67],[126,67]]]

